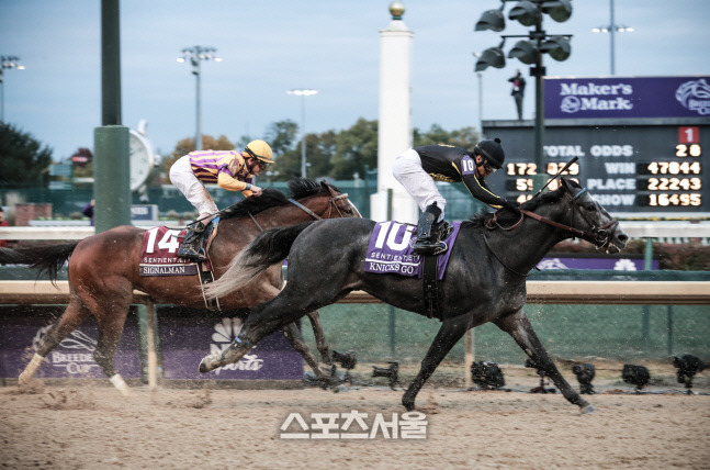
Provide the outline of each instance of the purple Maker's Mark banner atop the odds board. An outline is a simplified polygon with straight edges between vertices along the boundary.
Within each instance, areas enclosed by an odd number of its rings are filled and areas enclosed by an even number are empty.
[[[545,119],[710,118],[710,76],[545,78]]]

